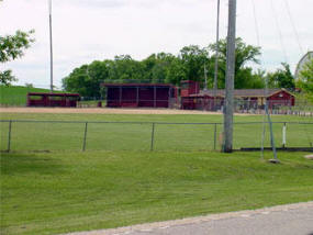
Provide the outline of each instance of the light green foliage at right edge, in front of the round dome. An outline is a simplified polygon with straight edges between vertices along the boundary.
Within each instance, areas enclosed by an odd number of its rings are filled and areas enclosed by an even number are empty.
[[[313,102],[313,59],[309,60],[300,72],[299,87],[302,88]]]

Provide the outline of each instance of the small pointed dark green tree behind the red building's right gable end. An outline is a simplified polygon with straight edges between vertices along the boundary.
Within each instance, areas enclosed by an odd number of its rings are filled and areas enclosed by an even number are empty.
[[[268,74],[269,87],[294,90],[295,82],[290,71],[290,66],[286,63],[281,65],[283,67],[282,69],[279,68],[277,71]]]

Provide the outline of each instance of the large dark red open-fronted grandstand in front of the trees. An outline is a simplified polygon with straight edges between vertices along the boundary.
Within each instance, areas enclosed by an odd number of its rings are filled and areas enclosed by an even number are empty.
[[[164,83],[102,83],[109,108],[169,108],[177,89]]]

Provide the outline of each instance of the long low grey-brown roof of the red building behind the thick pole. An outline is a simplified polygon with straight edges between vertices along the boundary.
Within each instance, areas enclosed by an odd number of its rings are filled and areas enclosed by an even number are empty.
[[[246,97],[271,97],[280,91],[286,91],[287,93],[293,96],[286,89],[268,89],[267,96],[265,94],[265,89],[235,89],[234,96],[236,98],[246,98]],[[192,94],[192,97],[199,97],[199,96],[209,96],[214,97],[214,90],[201,90],[198,94]],[[216,97],[225,97],[225,90],[219,89],[216,91]]]

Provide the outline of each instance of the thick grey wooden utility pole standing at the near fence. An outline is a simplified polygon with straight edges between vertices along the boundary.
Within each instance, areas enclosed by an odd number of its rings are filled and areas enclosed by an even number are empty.
[[[223,152],[233,152],[234,78],[236,49],[236,0],[228,0],[228,35],[226,59],[226,93],[224,109]]]

